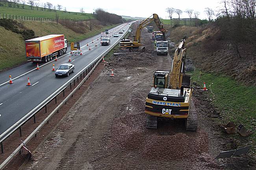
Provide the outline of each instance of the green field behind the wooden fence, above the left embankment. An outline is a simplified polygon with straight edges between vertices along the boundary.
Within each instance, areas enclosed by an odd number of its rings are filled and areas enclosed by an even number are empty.
[[[14,8],[14,7],[5,7],[4,2],[1,2],[0,4],[3,4],[4,6],[0,6],[0,16],[3,14],[8,14],[8,15],[20,15],[20,16],[26,16],[26,17],[38,17],[38,18],[56,18],[56,13],[59,16],[59,19],[91,19],[94,18],[92,14],[88,13],[79,13],[79,12],[64,12],[64,11],[59,11],[59,10],[52,10],[46,11],[42,8],[39,7],[37,10],[36,7],[32,10],[30,6],[25,5],[24,9],[21,7],[19,8]],[[7,3],[6,3],[7,4]],[[8,6],[8,4],[7,4]]]

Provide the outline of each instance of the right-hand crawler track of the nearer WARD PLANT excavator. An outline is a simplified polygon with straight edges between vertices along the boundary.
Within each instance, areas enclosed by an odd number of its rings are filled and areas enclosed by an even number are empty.
[[[193,100],[191,99],[189,114],[186,121],[186,129],[187,131],[197,131],[197,110]]]

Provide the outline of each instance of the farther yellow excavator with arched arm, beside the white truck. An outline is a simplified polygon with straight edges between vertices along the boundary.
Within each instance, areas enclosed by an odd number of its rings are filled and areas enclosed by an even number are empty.
[[[153,21],[156,23],[156,26],[158,26],[158,29],[163,33],[163,39],[165,39],[165,29],[163,28],[163,24],[161,23],[161,20],[158,17],[158,15],[153,14],[150,17],[148,17],[147,19],[143,20],[137,26],[137,30],[136,30],[135,36],[133,37],[133,40],[121,39],[119,42],[120,47],[128,48],[129,51],[132,51],[133,49],[138,49],[142,52],[145,52],[146,48],[145,48],[145,46],[142,46],[142,44],[141,44],[141,30]]]

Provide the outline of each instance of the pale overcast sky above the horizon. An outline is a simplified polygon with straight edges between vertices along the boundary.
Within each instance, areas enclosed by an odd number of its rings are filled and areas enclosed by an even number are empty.
[[[117,15],[148,18],[156,13],[163,19],[169,19],[165,12],[167,7],[182,11],[187,8],[194,9],[200,12],[200,19],[205,19],[207,15],[204,13],[204,8],[209,7],[217,11],[220,6],[220,0],[90,0],[89,2],[87,0],[40,0],[40,2],[50,2],[56,6],[60,4],[66,7],[67,11],[72,12],[79,12],[83,7],[85,13],[92,13],[94,9],[100,7]],[[177,17],[176,14],[173,15],[173,18]],[[183,13],[181,18],[188,18],[187,13]]]

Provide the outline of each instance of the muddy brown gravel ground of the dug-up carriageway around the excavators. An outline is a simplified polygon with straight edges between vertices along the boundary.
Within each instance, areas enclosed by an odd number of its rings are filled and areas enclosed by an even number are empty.
[[[153,72],[170,70],[173,55],[152,52],[151,36],[143,30],[145,53],[118,50],[109,59],[22,170],[219,169],[214,158],[234,146],[212,120],[214,108],[200,89],[193,96],[197,132],[186,131],[183,120],[165,118],[159,119],[158,129],[145,128],[145,99]],[[115,77],[110,77],[112,68]],[[255,169],[248,157],[222,161],[222,169]]]

